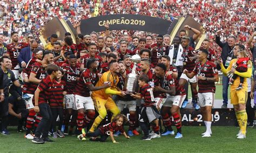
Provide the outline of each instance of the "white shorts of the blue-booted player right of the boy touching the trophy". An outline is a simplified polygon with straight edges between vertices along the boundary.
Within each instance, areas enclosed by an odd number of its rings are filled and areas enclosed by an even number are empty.
[[[176,96],[167,96],[167,99],[164,103],[164,107],[172,107],[172,105],[178,106],[181,108],[183,101],[185,100],[186,95],[176,95]]]

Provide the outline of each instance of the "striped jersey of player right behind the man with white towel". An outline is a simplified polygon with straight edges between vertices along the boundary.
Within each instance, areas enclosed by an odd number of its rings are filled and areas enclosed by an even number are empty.
[[[193,57],[194,54],[197,53],[196,51],[194,51],[194,48],[188,46],[187,49],[183,49],[183,54],[182,54],[182,58],[183,58],[183,69],[187,69],[188,73],[191,73],[194,69],[194,66],[196,65],[196,60],[190,60],[189,57]]]

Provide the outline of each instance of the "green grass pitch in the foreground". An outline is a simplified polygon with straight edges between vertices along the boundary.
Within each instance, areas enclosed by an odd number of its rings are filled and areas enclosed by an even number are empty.
[[[173,127],[176,130],[175,127]],[[205,127],[183,127],[183,138],[162,136],[151,141],[139,140],[142,135],[130,140],[123,135],[115,137],[119,144],[111,142],[79,141],[76,136],[54,139],[55,142],[33,144],[16,127],[10,127],[10,135],[0,135],[0,152],[255,152],[256,130],[247,128],[244,140],[237,140],[239,128],[212,127],[212,137],[201,137]],[[53,138],[51,138],[53,140]]]

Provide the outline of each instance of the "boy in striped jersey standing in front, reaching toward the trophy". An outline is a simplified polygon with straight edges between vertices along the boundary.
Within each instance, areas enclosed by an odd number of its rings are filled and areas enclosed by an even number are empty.
[[[144,99],[145,101],[139,119],[139,124],[143,130],[144,137],[140,139],[151,140],[147,124],[152,122],[154,133],[159,134],[158,118],[160,117],[160,113],[158,112],[156,106],[154,105],[155,101],[152,87],[149,84],[147,84],[147,82],[149,82],[149,78],[147,77],[147,75],[142,75],[139,77],[138,80],[139,87],[141,88],[141,94],[136,93],[136,95],[131,94],[131,96],[136,99]]]

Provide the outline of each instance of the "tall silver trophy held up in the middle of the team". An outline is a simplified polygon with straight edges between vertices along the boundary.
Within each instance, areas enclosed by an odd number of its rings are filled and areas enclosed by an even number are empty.
[[[138,54],[132,56],[132,61],[134,63],[132,72],[127,75],[125,79],[124,89],[126,92],[134,93],[139,91],[138,78],[139,75],[136,74],[136,64],[140,63],[140,56]]]

